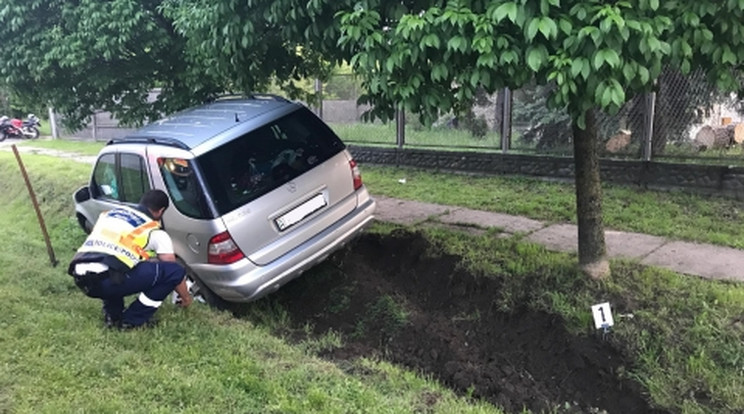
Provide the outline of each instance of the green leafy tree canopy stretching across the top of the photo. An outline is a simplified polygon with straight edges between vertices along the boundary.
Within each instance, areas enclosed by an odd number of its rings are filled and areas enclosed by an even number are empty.
[[[617,107],[667,65],[708,68],[726,85],[744,65],[744,0],[55,0],[33,13],[2,1],[0,40],[14,45],[0,50],[4,80],[70,119],[104,106],[145,118],[340,61],[383,113],[401,102],[435,113],[533,80],[580,113]],[[154,85],[157,105],[135,98]],[[72,86],[79,96],[65,97]]]

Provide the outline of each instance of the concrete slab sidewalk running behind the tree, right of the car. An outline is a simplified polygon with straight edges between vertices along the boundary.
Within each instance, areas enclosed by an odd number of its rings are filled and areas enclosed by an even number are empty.
[[[546,224],[520,216],[382,196],[375,199],[375,215],[381,221],[398,224],[430,221],[448,226],[496,228],[505,234],[523,234],[527,240],[549,250],[578,251],[578,230],[573,224]],[[622,231],[608,230],[605,236],[611,258],[633,259],[709,279],[744,281],[744,250]]]

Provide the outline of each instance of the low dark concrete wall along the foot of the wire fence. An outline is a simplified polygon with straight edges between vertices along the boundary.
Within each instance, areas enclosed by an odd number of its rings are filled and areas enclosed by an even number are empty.
[[[360,163],[434,170],[573,179],[570,157],[349,146]],[[601,160],[602,180],[644,188],[684,189],[744,199],[744,167]]]

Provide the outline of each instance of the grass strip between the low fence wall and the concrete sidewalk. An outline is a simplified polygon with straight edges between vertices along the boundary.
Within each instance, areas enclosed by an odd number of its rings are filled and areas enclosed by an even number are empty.
[[[363,166],[362,177],[376,195],[576,222],[575,189],[568,181],[372,165]],[[744,206],[730,198],[605,184],[603,213],[608,229],[744,248]]]

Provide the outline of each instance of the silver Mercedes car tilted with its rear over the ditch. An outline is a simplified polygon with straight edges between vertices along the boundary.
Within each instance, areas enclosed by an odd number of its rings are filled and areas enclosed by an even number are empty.
[[[334,132],[273,95],[219,99],[110,141],[73,196],[90,232],[98,216],[152,188],[163,227],[210,303],[274,292],[357,236],[375,201]],[[216,296],[215,296],[216,295]]]

